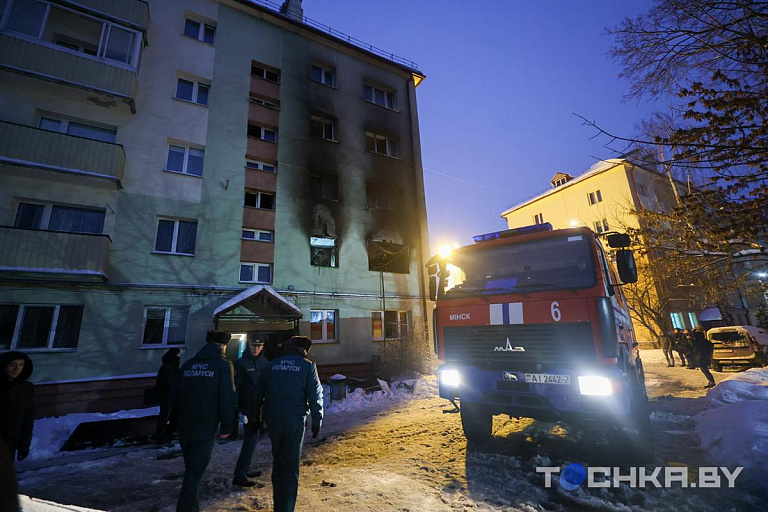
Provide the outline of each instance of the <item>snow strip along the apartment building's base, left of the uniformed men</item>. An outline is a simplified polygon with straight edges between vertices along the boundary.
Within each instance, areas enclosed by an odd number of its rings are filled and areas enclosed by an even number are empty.
[[[120,418],[141,418],[159,414],[159,407],[147,409],[132,409],[113,413],[77,413],[53,418],[35,420],[32,432],[32,444],[29,450],[29,460],[46,459],[56,455],[69,436],[80,423],[88,421],[114,420]]]

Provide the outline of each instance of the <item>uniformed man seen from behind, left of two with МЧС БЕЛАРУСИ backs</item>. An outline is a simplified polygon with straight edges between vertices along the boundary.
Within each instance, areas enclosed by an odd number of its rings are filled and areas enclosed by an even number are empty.
[[[177,512],[200,510],[198,486],[211,461],[216,430],[234,430],[235,381],[232,363],[224,357],[229,333],[208,331],[206,344],[181,366],[178,380],[179,446],[184,455]]]

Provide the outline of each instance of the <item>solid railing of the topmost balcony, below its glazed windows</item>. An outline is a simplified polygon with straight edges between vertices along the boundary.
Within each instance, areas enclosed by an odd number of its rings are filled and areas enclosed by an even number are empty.
[[[116,96],[131,104],[136,98],[135,71],[7,34],[0,34],[0,67]]]

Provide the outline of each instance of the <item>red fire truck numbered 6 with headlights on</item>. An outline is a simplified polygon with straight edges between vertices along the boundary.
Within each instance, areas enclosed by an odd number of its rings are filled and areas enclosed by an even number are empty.
[[[615,250],[606,254],[600,238]],[[467,440],[491,439],[497,414],[646,434],[643,366],[621,290],[637,281],[629,236],[543,223],[474,241],[428,263],[439,392],[460,408]]]

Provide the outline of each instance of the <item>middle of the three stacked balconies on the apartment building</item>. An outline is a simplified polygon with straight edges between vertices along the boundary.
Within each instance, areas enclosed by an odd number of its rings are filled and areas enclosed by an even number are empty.
[[[0,121],[0,164],[59,173],[81,185],[122,188],[125,152],[119,144]]]

